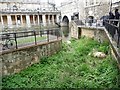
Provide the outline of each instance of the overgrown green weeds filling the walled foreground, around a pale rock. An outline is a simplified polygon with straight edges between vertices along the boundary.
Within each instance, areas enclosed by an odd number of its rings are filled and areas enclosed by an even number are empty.
[[[81,38],[63,44],[63,49],[40,63],[4,77],[4,88],[118,88],[120,73],[109,53],[108,43]],[[107,54],[104,59],[88,55],[93,48]]]

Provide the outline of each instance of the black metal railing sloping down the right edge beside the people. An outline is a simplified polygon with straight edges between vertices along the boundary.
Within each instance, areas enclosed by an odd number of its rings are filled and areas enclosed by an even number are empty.
[[[120,48],[120,21],[115,19],[105,20],[104,26],[112,37],[112,40],[116,42],[117,47]]]

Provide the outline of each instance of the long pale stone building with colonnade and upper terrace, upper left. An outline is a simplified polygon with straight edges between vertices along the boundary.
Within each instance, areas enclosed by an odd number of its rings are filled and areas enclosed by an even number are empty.
[[[55,24],[60,11],[48,0],[0,0],[1,26]]]

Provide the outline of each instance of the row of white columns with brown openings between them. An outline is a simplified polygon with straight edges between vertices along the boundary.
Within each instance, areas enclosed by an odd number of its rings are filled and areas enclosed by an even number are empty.
[[[6,14],[0,15],[0,24],[2,26],[28,26],[31,25],[54,25],[58,21],[58,15],[29,15],[29,14]]]

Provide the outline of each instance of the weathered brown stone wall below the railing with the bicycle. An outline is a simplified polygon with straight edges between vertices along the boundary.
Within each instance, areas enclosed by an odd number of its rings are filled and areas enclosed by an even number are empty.
[[[18,73],[28,66],[40,62],[44,56],[55,54],[61,49],[61,40],[34,45],[16,51],[3,52],[0,55],[2,75]]]

